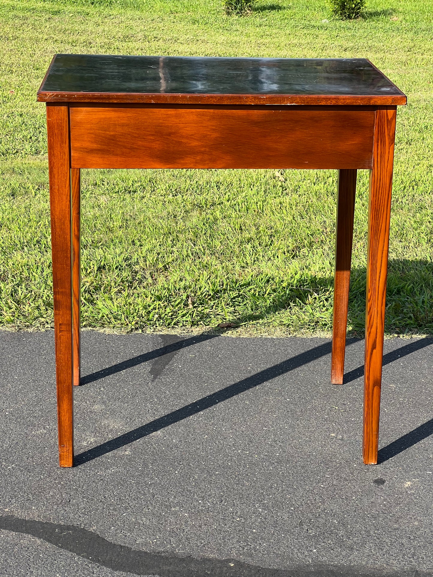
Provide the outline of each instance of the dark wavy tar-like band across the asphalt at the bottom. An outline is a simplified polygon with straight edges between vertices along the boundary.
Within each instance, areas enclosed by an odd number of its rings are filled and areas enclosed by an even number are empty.
[[[107,541],[100,535],[61,523],[0,516],[0,529],[42,539],[60,549],[96,563],[135,575],[159,577],[431,577],[431,572],[389,567],[339,565],[296,565],[278,569],[259,567],[236,559],[181,556],[174,553],[149,553]]]

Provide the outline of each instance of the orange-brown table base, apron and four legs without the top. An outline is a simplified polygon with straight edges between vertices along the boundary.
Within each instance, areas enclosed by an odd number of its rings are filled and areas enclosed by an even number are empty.
[[[80,168],[339,168],[333,383],[344,373],[356,169],[371,168],[363,459],[377,462],[395,116],[395,106],[47,103],[62,467],[73,465],[80,379]]]

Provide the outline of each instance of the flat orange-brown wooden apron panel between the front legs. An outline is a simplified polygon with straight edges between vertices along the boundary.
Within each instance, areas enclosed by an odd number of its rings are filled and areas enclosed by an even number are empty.
[[[73,168],[371,168],[361,107],[70,104]]]

